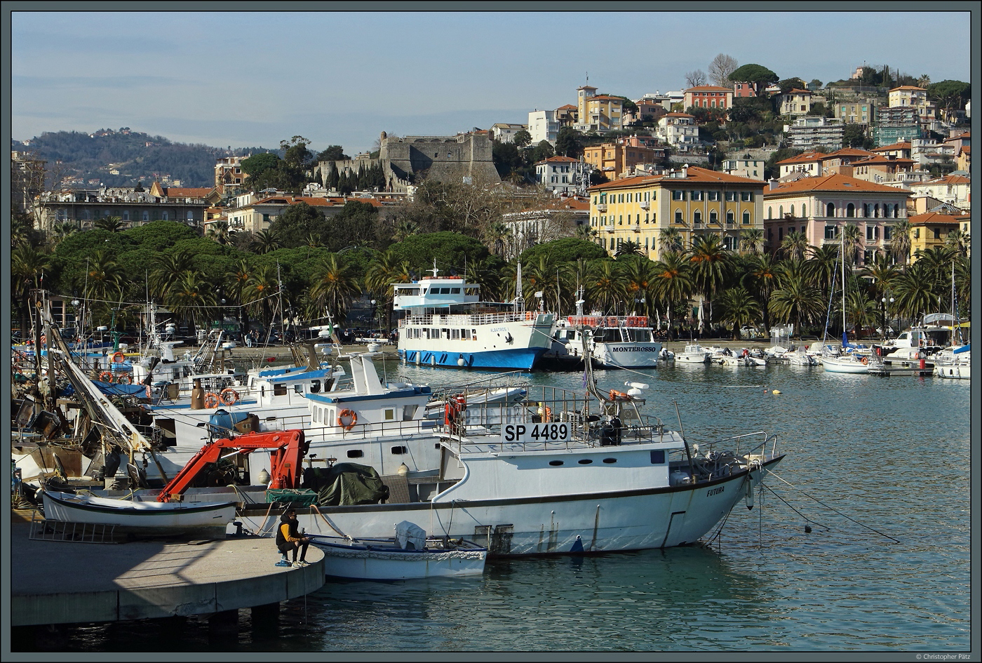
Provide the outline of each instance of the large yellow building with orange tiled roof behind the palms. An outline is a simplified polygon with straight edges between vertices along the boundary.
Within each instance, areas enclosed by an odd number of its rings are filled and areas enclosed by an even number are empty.
[[[685,248],[715,233],[736,249],[740,231],[763,232],[764,186],[760,180],[696,167],[625,178],[590,188],[590,227],[611,255],[634,242],[657,260],[661,232],[669,228],[679,231]]]

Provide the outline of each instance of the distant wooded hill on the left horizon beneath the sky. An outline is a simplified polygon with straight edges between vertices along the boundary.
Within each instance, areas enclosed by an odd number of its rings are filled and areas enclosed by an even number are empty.
[[[11,149],[46,160],[49,174],[60,175],[63,185],[69,187],[134,187],[137,182],[149,185],[164,177],[180,181],[182,187],[210,187],[215,162],[222,157],[282,152],[278,147],[231,149],[171,142],[162,136],[131,132],[127,127],[92,134],[45,132],[23,142],[13,140]]]

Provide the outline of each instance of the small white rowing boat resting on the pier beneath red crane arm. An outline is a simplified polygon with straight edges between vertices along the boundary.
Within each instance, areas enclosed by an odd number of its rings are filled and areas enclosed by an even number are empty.
[[[224,526],[236,517],[235,502],[140,502],[52,490],[41,494],[44,518],[62,523],[188,529]]]

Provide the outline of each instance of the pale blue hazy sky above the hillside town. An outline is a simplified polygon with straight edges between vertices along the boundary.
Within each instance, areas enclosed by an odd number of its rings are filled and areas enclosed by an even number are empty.
[[[958,11],[178,12],[165,4],[142,13],[11,4],[18,140],[130,127],[216,147],[277,147],[302,136],[314,151],[340,144],[354,156],[382,131],[453,136],[527,123],[530,111],[574,104],[584,84],[632,99],[680,90],[686,72],[708,72],[718,53],[806,82],[846,79],[864,63],[971,81],[969,15]]]

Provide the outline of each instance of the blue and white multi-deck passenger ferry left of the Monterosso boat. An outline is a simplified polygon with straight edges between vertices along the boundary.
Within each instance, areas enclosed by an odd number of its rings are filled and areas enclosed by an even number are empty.
[[[393,284],[399,357],[449,368],[531,370],[552,345],[553,314],[514,303],[481,302],[480,286],[433,276]]]

